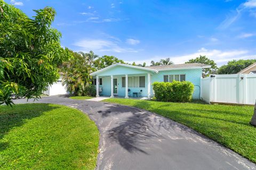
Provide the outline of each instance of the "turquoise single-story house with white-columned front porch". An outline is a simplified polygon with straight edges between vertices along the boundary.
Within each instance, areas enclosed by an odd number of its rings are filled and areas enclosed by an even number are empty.
[[[151,86],[153,82],[172,82],[177,80],[191,81],[195,85],[193,98],[199,99],[202,69],[210,67],[210,65],[199,63],[146,67],[117,63],[90,75],[93,76],[93,84],[98,87],[96,88],[97,96],[124,96],[128,98],[128,91],[133,96],[133,92],[142,90],[141,96],[150,98],[153,97]],[[99,89],[101,92],[99,92]]]

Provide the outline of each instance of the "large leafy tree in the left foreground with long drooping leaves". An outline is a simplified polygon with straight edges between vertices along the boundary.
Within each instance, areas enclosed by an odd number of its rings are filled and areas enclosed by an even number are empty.
[[[0,104],[11,105],[12,93],[38,98],[59,78],[58,66],[69,57],[61,33],[51,28],[51,7],[26,14],[0,0]]]

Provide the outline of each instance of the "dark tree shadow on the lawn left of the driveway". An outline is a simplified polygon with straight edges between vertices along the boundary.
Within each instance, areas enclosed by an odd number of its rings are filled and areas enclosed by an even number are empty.
[[[49,104],[20,104],[14,105],[13,108],[7,106],[1,107],[3,110],[0,111],[0,140],[14,126],[22,126],[25,120],[30,120],[34,117],[41,116],[44,112],[58,108]],[[5,150],[8,146],[8,142],[0,142],[0,151]]]

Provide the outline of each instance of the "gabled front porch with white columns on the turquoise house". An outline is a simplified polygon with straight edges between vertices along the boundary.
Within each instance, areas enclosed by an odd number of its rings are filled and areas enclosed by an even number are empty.
[[[157,73],[154,69],[145,67],[114,64],[91,73],[93,84],[96,86],[96,97],[140,97],[150,99],[153,96],[151,87],[152,75]]]

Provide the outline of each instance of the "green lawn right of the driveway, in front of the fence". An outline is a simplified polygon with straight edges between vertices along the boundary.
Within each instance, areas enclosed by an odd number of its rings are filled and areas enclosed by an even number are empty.
[[[169,117],[256,163],[256,128],[249,124],[253,115],[252,106],[165,103],[117,98],[103,101],[134,106]]]

